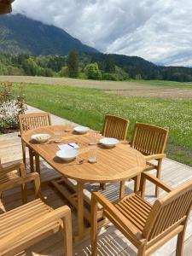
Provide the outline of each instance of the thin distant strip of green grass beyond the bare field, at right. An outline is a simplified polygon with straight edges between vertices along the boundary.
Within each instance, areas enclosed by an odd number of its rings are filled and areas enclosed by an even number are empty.
[[[166,80],[143,80],[143,79],[129,79],[130,82],[135,82],[137,84],[148,84],[148,85],[160,85],[171,88],[182,88],[182,89],[192,89],[192,82],[176,82],[176,81],[166,81]]]

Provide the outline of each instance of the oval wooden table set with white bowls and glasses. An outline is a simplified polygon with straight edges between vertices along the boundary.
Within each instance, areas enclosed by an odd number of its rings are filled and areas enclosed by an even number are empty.
[[[140,178],[146,160],[129,143],[113,137],[104,137],[98,131],[81,125],[47,125],[21,134],[21,141],[30,152],[32,172],[40,173],[39,157],[44,159],[60,177],[51,183],[77,210],[78,231],[76,240],[90,232],[90,201],[84,195],[87,183],[103,188],[106,183],[119,183],[119,199],[125,195],[125,180]],[[35,160],[35,169],[32,160]],[[139,189],[139,182],[135,191]],[[98,211],[98,224],[107,221]]]

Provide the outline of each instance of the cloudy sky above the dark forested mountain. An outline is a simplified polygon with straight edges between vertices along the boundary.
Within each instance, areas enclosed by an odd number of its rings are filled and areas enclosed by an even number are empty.
[[[15,0],[13,13],[61,27],[104,53],[192,67],[191,0]]]

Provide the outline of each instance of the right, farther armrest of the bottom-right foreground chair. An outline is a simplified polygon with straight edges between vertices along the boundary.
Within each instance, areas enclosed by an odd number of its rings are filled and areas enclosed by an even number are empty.
[[[140,191],[143,191],[146,179],[148,181],[150,181],[151,183],[154,183],[155,185],[160,187],[160,189],[164,189],[166,192],[171,192],[172,191],[172,187],[170,187],[166,183],[162,182],[159,178],[154,177],[153,175],[151,175],[151,174],[149,174],[147,172],[143,172],[142,173],[141,183],[140,183]]]

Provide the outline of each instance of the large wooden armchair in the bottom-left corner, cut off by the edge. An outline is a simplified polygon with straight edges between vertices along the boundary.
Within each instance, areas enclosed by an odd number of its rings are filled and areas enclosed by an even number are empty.
[[[61,231],[65,243],[63,255],[72,256],[71,211],[67,206],[53,210],[44,203],[37,172],[1,184],[0,191],[32,181],[35,183],[35,195],[38,199],[0,215],[0,255],[15,255]]]

